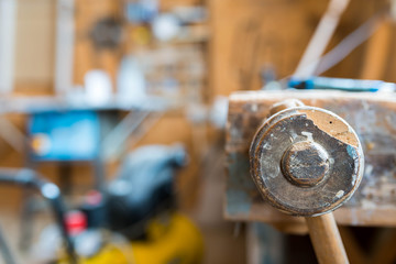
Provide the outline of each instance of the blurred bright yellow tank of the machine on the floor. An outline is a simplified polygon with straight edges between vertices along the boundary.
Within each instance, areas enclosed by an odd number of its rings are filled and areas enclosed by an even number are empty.
[[[180,213],[154,219],[147,240],[125,245],[109,243],[80,264],[196,264],[201,262],[202,238],[195,224]],[[67,263],[67,262],[61,262]]]

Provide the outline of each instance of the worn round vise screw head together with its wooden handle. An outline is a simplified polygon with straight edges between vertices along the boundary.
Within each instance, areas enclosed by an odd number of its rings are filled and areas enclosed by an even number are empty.
[[[318,261],[349,263],[331,213],[363,177],[362,145],[334,113],[287,100],[273,106],[250,148],[251,175],[275,208],[306,218]]]

